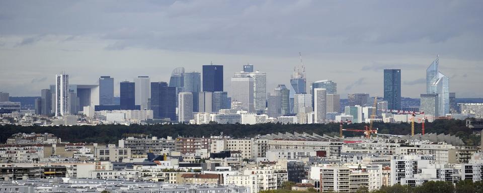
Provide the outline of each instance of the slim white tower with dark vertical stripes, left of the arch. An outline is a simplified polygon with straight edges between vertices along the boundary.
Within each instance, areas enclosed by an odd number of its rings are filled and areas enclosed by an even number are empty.
[[[69,75],[55,75],[55,117],[69,115]]]

